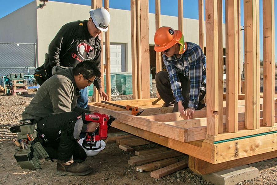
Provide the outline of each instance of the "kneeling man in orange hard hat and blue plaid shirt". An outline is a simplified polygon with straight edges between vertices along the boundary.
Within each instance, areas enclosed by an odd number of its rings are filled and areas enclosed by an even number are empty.
[[[195,110],[206,106],[206,58],[201,47],[184,42],[181,31],[160,27],[154,36],[155,51],[162,52],[167,71],[156,74],[156,86],[164,106],[172,106],[193,118]]]

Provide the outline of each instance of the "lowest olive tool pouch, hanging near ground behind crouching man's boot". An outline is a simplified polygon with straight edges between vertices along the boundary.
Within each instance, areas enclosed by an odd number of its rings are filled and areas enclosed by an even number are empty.
[[[40,169],[41,163],[37,156],[31,152],[31,144],[27,145],[27,148],[21,149],[21,146],[18,146],[15,149],[14,158],[18,162],[19,166],[22,169]]]

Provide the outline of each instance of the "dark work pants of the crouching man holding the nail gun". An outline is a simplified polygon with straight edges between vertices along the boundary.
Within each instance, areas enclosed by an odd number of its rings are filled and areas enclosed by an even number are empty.
[[[43,143],[49,158],[69,161],[73,155],[74,160],[86,159],[86,152],[73,137],[78,116],[76,112],[66,112],[49,115],[38,121],[38,129],[49,140]]]

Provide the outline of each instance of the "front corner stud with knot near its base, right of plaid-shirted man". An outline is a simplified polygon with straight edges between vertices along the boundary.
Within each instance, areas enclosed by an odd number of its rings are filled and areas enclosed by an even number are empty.
[[[205,1],[206,58],[207,58],[207,134],[218,135],[219,85],[218,85],[218,35],[217,1]]]

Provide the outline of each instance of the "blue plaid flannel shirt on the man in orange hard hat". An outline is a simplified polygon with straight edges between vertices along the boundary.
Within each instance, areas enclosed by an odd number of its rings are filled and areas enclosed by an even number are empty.
[[[187,50],[179,59],[175,55],[167,57],[163,55],[163,62],[167,67],[171,89],[175,101],[184,101],[181,83],[177,73],[182,73],[191,81],[189,107],[197,109],[200,89],[205,90],[206,84],[206,58],[200,46],[186,42]]]

